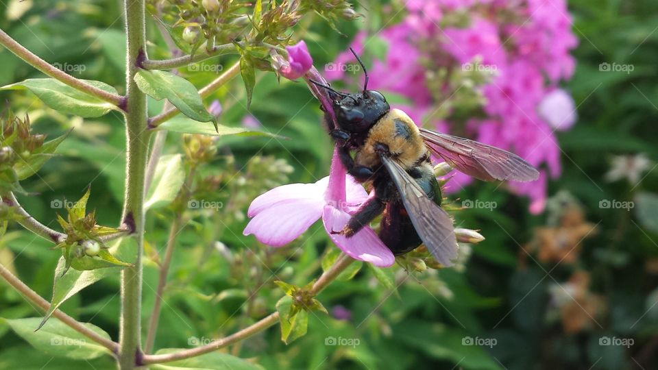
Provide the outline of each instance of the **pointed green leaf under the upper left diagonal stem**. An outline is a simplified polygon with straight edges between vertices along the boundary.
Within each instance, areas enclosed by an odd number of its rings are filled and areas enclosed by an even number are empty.
[[[99,81],[84,80],[91,86],[95,86],[108,93],[117,94],[112,86]],[[3,86],[0,90],[30,90],[47,106],[60,112],[75,114],[84,118],[103,116],[110,110],[119,110],[114,104],[108,103],[93,95],[83,93],[80,90],[63,84],[53,78],[33,78],[23,82],[17,82]]]

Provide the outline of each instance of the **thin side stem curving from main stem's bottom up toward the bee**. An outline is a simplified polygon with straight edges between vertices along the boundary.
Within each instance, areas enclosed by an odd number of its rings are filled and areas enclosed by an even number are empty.
[[[320,293],[324,288],[326,288],[326,286],[330,284],[330,282],[334,281],[334,279],[336,279],[336,277],[338,277],[338,275],[340,275],[343,270],[350,266],[352,262],[354,262],[352,258],[345,254],[341,254],[338,260],[332,265],[332,267],[323,273],[317,282],[313,284],[313,288],[310,288],[310,293],[313,295]],[[161,362],[171,362],[201,356],[202,354],[217,351],[217,349],[232,345],[233,343],[237,343],[239,341],[243,341],[244,339],[249,338],[249,336],[262,332],[263,330],[266,330],[278,322],[279,312],[273,312],[263,319],[260,319],[260,321],[247,326],[247,328],[244,328],[239,332],[235,332],[230,336],[216,339],[207,345],[202,345],[201,347],[191,349],[184,349],[183,351],[173,352],[171,354],[145,355],[143,364],[157,364]]]

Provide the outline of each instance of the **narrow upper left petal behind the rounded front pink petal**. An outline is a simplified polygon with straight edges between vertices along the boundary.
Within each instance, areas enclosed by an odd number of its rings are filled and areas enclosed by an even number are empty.
[[[328,181],[329,177],[324,177],[313,184],[288,184],[273,188],[252,201],[247,216],[254,217],[259,212],[279,202],[294,199],[315,199],[317,204],[324,204],[322,195],[327,188]]]

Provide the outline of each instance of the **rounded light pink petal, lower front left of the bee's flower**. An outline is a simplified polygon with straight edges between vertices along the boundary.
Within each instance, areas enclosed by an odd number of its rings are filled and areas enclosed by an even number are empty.
[[[254,234],[260,243],[280,247],[295,240],[322,214],[317,199],[289,199],[260,210],[249,221],[243,234]]]

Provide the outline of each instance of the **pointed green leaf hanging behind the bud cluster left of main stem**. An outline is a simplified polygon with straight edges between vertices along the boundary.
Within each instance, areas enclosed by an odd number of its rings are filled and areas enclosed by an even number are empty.
[[[132,239],[119,239],[114,242],[114,245],[110,247],[110,251],[118,256],[122,254],[127,254],[127,251],[132,249],[132,243],[129,243],[128,240]],[[99,269],[99,270],[90,270],[90,271],[78,271],[71,270],[66,271],[66,260],[64,257],[60,258],[60,261],[57,264],[55,269],[55,278],[53,281],[53,299],[50,302],[50,308],[48,308],[45,316],[43,317],[41,324],[38,328],[41,328],[43,324],[51,317],[53,312],[59,308],[66,299],[73,297],[77,292],[82,291],[82,289],[94,284],[95,282],[101,280],[103,277],[107,277],[111,274],[117,273],[118,269]],[[38,329],[37,328],[37,329]]]

